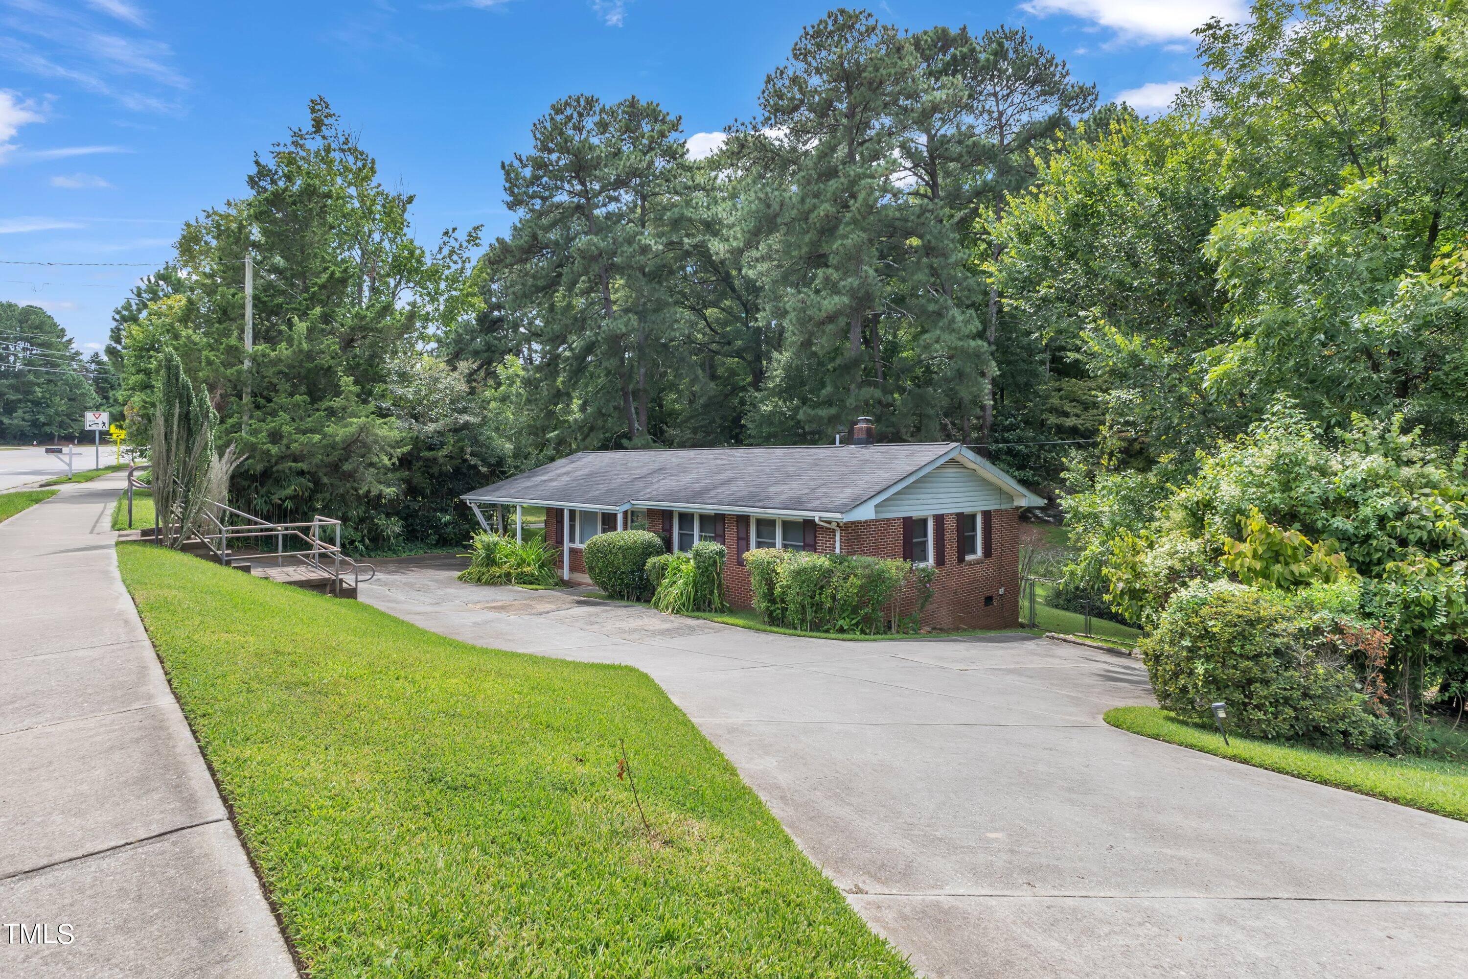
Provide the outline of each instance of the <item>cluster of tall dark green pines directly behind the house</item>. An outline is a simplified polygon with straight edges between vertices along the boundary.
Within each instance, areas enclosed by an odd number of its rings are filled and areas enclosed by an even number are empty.
[[[1094,101],[1025,31],[853,10],[802,32],[711,159],[655,103],[559,100],[504,164],[515,226],[454,358],[490,385],[520,364],[558,454],[828,442],[857,414],[890,439],[1089,434],[1075,371],[1035,360],[973,250]]]

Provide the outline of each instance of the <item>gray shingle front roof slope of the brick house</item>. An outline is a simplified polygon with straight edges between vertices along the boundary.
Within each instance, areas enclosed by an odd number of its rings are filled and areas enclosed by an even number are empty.
[[[615,509],[652,505],[844,514],[953,442],[578,452],[464,499]]]

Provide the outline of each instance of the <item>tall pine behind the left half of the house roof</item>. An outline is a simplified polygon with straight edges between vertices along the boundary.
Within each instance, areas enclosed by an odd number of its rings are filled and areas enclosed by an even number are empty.
[[[504,164],[518,219],[487,272],[534,343],[540,389],[580,396],[577,426],[593,443],[647,440],[652,405],[678,370],[678,128],[656,103],[573,95],[536,120],[533,150]]]

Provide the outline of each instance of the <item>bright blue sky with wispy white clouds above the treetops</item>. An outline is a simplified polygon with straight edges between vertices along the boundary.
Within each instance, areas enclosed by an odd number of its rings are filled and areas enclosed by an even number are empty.
[[[829,4],[804,0],[0,0],[0,260],[159,263],[179,225],[244,189],[252,154],[326,95],[424,241],[509,226],[499,161],[561,95],[637,94],[718,132]],[[903,28],[1023,25],[1102,98],[1144,110],[1196,75],[1189,31],[1239,0],[887,0]],[[708,142],[696,139],[694,145]],[[84,348],[145,267],[0,264],[0,299]]]

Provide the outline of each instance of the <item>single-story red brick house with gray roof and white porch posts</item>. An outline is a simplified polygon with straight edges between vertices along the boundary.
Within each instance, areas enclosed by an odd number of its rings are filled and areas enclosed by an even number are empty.
[[[589,581],[581,549],[612,530],[662,534],[669,552],[728,549],[725,599],[750,608],[756,547],[932,565],[928,628],[1019,621],[1019,511],[1044,501],[956,442],[873,445],[862,418],[846,446],[578,452],[464,495],[483,508],[545,506],[567,581]]]

